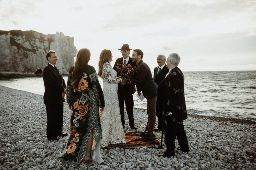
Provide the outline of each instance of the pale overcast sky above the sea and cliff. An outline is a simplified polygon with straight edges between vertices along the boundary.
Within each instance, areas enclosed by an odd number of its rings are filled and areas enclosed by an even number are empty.
[[[255,0],[0,0],[0,30],[63,32],[96,70],[101,50],[113,66],[124,43],[151,71],[171,53],[182,71],[256,70]]]

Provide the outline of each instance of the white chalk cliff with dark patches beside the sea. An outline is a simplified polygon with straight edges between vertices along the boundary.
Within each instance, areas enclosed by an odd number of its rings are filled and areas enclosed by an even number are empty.
[[[56,51],[56,66],[67,74],[77,52],[73,37],[62,32],[44,35],[36,31],[0,31],[0,73],[34,74],[47,64],[49,50]]]

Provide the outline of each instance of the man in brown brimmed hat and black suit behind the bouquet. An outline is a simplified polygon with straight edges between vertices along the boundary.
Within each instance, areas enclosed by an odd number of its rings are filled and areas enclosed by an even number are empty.
[[[122,53],[121,58],[118,58],[114,64],[113,69],[115,70],[116,67],[118,67],[117,64],[130,64],[132,67],[135,67],[136,64],[132,62],[131,57],[129,57],[130,54],[130,47],[128,44],[123,44],[119,50]],[[119,73],[117,73],[117,76],[120,76]],[[132,94],[135,93],[133,89],[131,88],[130,84],[125,83],[122,81],[121,83],[118,83],[118,90],[117,90],[117,96],[119,100],[119,108],[120,108],[120,115],[121,115],[121,122],[123,125],[123,128],[125,129],[125,111],[124,107],[126,107],[126,112],[129,119],[129,125],[131,129],[137,129],[137,127],[134,126],[134,118],[133,118],[133,96]]]

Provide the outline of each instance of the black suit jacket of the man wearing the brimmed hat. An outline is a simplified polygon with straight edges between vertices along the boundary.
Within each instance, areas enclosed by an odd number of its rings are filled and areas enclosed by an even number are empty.
[[[116,70],[117,64],[123,64],[123,57],[116,59],[115,65],[113,67],[114,70]],[[128,64],[130,64],[133,68],[136,67],[136,64],[132,62],[131,57],[129,57],[129,60],[126,63],[126,65]],[[120,76],[120,74],[117,73],[117,76]],[[135,88],[135,85],[134,85],[134,88]],[[130,94],[135,93],[135,91],[132,90],[130,84],[127,84],[127,83],[124,85],[118,83],[117,93],[120,93],[121,91],[125,91],[126,93],[130,93]]]

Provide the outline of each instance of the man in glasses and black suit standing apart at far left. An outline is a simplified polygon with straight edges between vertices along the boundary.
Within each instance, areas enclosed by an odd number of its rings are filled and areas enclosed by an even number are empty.
[[[63,125],[63,102],[66,95],[65,81],[55,66],[58,56],[55,51],[46,54],[48,64],[43,70],[45,85],[44,104],[47,112],[46,135],[49,140],[58,140],[57,136],[67,136],[62,133]]]

